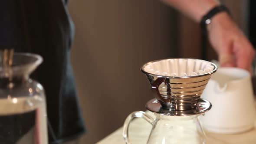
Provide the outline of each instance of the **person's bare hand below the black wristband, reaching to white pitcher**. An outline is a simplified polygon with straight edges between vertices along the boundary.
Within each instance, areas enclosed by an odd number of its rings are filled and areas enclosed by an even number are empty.
[[[250,72],[255,51],[227,13],[214,16],[207,30],[221,66],[238,67]]]

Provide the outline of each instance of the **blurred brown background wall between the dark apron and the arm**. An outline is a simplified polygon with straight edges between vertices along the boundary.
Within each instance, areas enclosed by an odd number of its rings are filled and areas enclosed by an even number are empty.
[[[224,2],[242,13],[242,0]],[[202,57],[198,24],[158,0],[70,0],[69,10],[76,27],[71,58],[87,127],[81,144],[96,143],[129,113],[145,110],[153,98],[140,72],[145,62]],[[216,59],[207,49],[207,59]]]

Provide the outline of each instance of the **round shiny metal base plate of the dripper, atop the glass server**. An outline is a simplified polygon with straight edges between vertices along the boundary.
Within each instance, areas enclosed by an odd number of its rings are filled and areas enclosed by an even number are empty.
[[[172,110],[162,108],[161,103],[154,98],[147,102],[146,108],[149,111],[156,112],[161,115],[188,116],[188,115],[197,115],[197,114],[202,114],[204,112],[207,112],[212,108],[212,105],[209,101],[203,98],[200,98],[195,108],[192,108],[186,111],[172,111]]]

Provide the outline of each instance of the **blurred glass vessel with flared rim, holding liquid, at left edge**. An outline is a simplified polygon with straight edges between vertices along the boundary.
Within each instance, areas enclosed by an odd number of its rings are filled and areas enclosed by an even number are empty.
[[[3,54],[2,54],[3,56]],[[45,94],[29,75],[41,56],[14,53],[0,65],[0,144],[48,144]]]

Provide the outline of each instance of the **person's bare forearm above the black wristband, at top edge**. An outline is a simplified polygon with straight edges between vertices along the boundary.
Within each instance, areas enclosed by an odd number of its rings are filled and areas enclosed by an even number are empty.
[[[218,0],[162,0],[189,16],[196,22],[200,22],[203,15],[219,4]]]

